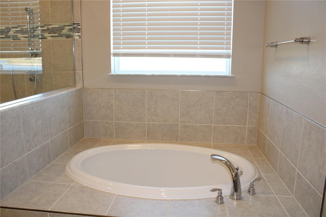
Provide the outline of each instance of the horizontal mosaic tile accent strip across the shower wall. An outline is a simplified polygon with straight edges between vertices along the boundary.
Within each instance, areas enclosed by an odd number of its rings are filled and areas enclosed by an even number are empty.
[[[80,38],[80,23],[60,23],[33,25],[32,38],[37,39],[62,39]],[[29,33],[27,25],[12,25],[0,27],[1,40],[25,40]]]

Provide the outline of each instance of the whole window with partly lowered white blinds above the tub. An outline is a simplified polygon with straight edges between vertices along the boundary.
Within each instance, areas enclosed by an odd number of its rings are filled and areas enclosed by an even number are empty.
[[[230,74],[232,0],[111,4],[112,74]]]

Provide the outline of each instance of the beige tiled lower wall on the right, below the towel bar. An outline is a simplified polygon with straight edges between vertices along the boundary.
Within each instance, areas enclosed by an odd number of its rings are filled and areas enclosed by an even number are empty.
[[[319,216],[326,129],[260,94],[257,145],[309,216]]]

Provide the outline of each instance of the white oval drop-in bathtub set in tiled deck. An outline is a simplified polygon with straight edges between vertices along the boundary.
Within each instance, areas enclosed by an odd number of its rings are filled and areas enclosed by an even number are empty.
[[[211,188],[229,195],[231,175],[211,154],[229,159],[239,171],[242,191],[258,176],[243,157],[225,151],[173,144],[125,144],[92,148],[75,155],[66,166],[72,179],[119,195],[152,199],[216,197]]]

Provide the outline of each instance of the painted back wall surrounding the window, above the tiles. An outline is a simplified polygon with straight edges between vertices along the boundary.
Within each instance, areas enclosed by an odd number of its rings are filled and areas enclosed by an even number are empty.
[[[85,88],[260,91],[264,1],[234,3],[234,77],[108,75],[110,1],[83,0],[81,4]]]

